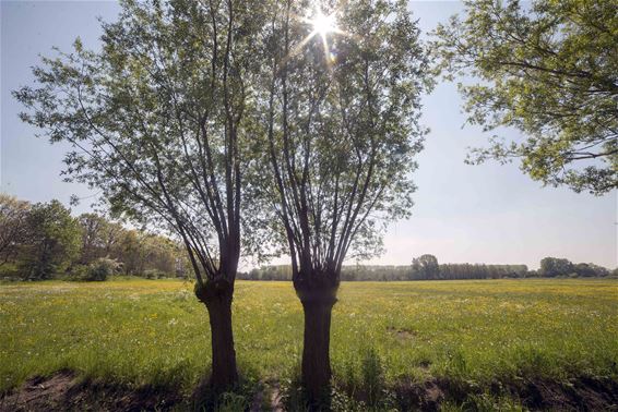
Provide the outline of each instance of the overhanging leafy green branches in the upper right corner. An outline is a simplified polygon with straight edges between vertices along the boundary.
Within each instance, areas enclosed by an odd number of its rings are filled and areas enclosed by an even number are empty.
[[[470,162],[521,159],[545,184],[601,195],[618,186],[618,12],[611,0],[466,1],[435,32],[472,124],[494,131]],[[524,136],[506,141],[502,126]]]

